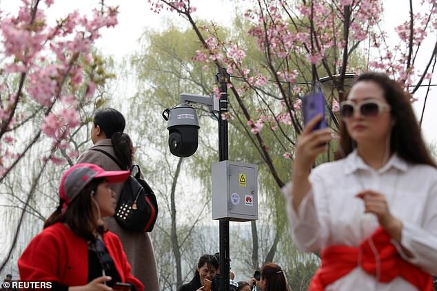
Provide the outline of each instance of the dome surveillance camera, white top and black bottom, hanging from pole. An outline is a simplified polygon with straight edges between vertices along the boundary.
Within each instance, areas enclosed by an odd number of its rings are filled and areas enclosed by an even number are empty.
[[[182,103],[172,109],[165,109],[163,118],[168,121],[167,129],[170,133],[168,147],[170,147],[170,152],[181,158],[187,158],[195,153],[200,128],[196,109],[191,105]]]

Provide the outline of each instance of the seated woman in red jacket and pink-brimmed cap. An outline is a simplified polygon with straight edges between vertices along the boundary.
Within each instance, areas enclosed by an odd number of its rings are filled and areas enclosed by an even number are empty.
[[[115,211],[110,184],[129,175],[87,163],[65,171],[57,210],[18,261],[21,279],[51,282],[52,290],[112,290],[120,282],[142,291],[119,238],[106,231],[101,220]]]

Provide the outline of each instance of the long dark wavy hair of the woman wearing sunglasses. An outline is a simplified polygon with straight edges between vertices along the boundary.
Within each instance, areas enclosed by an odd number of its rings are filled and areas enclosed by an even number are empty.
[[[429,164],[436,166],[436,163],[429,155],[429,151],[420,133],[420,127],[414,116],[413,108],[407,94],[399,83],[390,79],[386,74],[367,72],[361,74],[354,80],[354,85],[361,81],[370,81],[379,85],[384,90],[384,98],[392,108],[394,126],[390,140],[390,151],[397,153],[401,158],[412,164]],[[347,132],[345,122],[341,122],[340,146],[344,155],[354,150],[354,141]],[[337,158],[341,151],[336,154]]]

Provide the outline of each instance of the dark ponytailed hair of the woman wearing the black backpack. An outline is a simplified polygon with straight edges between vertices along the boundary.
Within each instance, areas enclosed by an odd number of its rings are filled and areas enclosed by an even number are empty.
[[[96,125],[99,125],[106,138],[111,139],[115,158],[123,165],[124,169],[130,169],[134,157],[134,147],[130,136],[123,133],[126,125],[123,114],[113,108],[101,109],[94,115],[94,126]]]

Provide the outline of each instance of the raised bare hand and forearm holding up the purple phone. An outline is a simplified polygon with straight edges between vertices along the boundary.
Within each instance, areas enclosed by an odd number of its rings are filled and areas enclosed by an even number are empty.
[[[313,131],[321,120],[321,114],[310,120],[298,138],[292,173],[292,204],[296,212],[298,212],[299,205],[311,186],[308,176],[314,160],[318,154],[327,151],[327,142],[332,139],[331,129]]]

